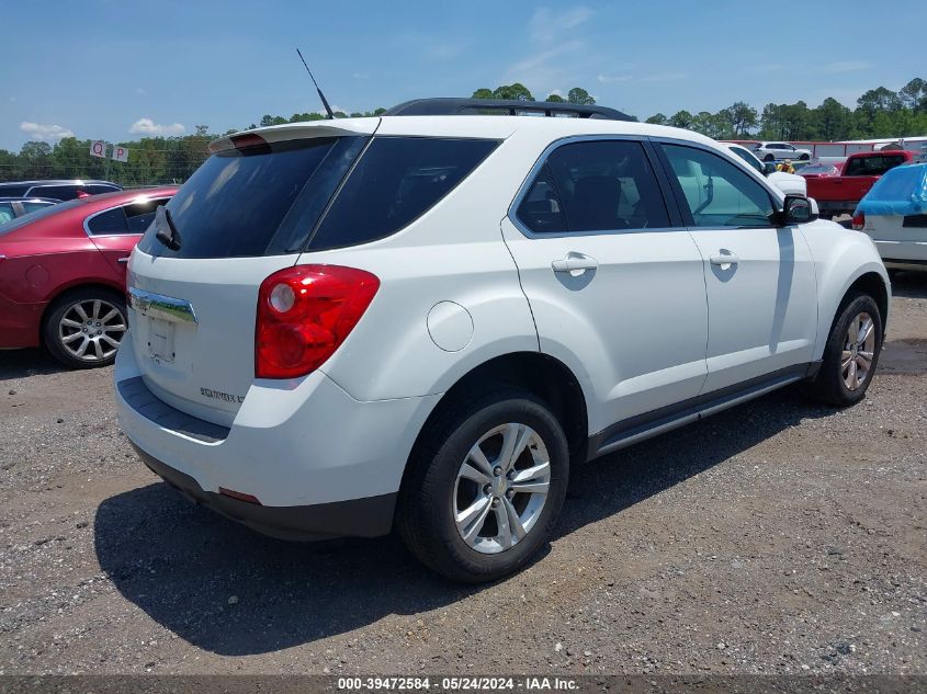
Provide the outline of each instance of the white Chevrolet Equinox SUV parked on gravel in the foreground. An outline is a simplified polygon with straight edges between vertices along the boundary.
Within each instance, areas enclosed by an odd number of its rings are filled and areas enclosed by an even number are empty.
[[[258,531],[396,527],[490,580],[547,542],[572,465],[871,383],[869,237],[694,133],[385,115],[212,150],[132,254],[116,402],[155,473]]]

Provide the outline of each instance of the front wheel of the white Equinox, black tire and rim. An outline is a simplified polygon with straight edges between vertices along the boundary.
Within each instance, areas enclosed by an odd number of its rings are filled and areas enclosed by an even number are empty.
[[[856,405],[866,397],[881,351],[882,316],[875,299],[868,294],[848,295],[830,328],[810,395],[836,407]]]

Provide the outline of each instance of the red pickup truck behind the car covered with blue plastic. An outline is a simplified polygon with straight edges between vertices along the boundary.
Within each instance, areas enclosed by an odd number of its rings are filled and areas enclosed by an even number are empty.
[[[861,151],[850,155],[843,175],[809,178],[807,196],[817,201],[825,219],[851,215],[879,177],[889,169],[914,161],[916,152],[903,150]]]

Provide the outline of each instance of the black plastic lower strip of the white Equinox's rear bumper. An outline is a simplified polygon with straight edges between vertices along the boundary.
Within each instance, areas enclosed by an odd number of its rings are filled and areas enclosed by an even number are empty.
[[[291,541],[346,535],[376,537],[386,535],[393,525],[395,493],[306,507],[264,507],[206,491],[190,475],[165,465],[138,446],[134,447],[155,475],[191,501],[271,537]]]

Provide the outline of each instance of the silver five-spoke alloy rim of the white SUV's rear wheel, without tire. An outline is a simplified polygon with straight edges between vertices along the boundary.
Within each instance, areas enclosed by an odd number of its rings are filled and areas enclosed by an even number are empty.
[[[551,460],[525,424],[486,432],[461,464],[454,483],[457,532],[476,551],[498,554],[524,539],[541,517],[551,487]]]

